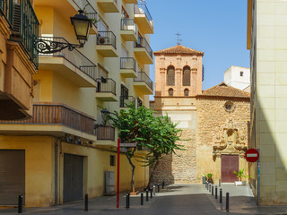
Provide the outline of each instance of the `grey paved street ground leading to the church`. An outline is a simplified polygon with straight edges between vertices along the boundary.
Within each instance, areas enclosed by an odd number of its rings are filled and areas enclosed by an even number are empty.
[[[215,185],[214,185],[215,186]],[[68,202],[48,208],[23,209],[23,214],[118,214],[118,215],[186,215],[186,214],[287,214],[287,207],[257,207],[248,185],[222,184],[223,203],[215,200],[204,185],[170,185],[140,205],[140,195],[130,198],[126,209],[126,193],[120,193],[120,208],[116,196],[102,196],[89,201],[89,211],[83,211],[83,201]],[[215,191],[215,190],[214,190]],[[225,194],[230,193],[230,211],[225,211]],[[214,192],[215,193],[215,192]],[[219,190],[218,190],[219,195]],[[0,214],[16,214],[17,209],[2,209]]]

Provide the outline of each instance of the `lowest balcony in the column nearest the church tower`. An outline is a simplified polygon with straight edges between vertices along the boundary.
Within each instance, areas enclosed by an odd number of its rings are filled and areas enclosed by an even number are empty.
[[[150,77],[144,72],[138,72],[137,78],[134,78],[134,86],[135,88],[143,91],[145,95],[153,94],[153,82]]]

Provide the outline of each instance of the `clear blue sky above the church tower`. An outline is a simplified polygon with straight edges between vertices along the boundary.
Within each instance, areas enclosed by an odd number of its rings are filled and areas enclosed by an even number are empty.
[[[249,67],[247,0],[145,0],[154,20],[153,51],[177,45],[204,52],[203,90],[223,81],[230,65]],[[154,82],[154,64],[151,65]],[[151,97],[153,99],[153,97]]]

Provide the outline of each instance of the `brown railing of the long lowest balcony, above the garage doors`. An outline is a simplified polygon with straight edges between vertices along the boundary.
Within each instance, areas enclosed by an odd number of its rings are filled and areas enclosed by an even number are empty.
[[[64,104],[40,102],[33,104],[33,116],[27,120],[0,121],[1,124],[65,125],[94,134],[94,119]]]

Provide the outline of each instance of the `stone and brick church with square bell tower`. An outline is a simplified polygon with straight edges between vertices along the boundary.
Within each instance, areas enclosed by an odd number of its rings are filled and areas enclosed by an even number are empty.
[[[213,174],[214,182],[238,180],[233,171],[248,163],[248,92],[222,82],[202,90],[204,53],[178,45],[154,52],[155,96],[151,107],[157,115],[170,116],[182,129],[178,144],[185,150],[161,159],[153,182],[201,183]]]

